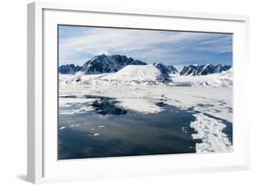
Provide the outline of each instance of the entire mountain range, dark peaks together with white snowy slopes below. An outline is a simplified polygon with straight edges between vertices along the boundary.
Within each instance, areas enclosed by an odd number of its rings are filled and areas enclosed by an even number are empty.
[[[189,65],[181,72],[172,65],[146,64],[126,55],[101,54],[82,66],[66,64],[58,68],[59,83],[84,84],[169,84],[177,86],[232,86],[230,65]],[[68,74],[72,74],[70,77]],[[66,76],[65,76],[66,75]]]

